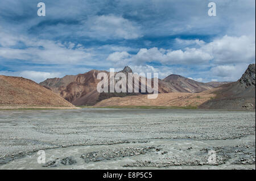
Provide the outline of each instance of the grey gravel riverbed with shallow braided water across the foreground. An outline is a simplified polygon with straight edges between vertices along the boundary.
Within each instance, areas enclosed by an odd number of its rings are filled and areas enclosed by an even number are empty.
[[[255,112],[2,111],[0,169],[255,169]]]

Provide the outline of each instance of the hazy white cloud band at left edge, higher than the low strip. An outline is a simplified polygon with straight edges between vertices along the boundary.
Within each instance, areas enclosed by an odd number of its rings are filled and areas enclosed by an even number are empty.
[[[19,59],[36,63],[47,64],[75,64],[92,59],[92,53],[86,49],[74,48],[75,44],[68,42],[61,44],[52,40],[29,39],[26,36],[7,35],[0,29],[0,57]],[[10,40],[10,41],[8,41]],[[24,48],[15,48],[18,43]]]

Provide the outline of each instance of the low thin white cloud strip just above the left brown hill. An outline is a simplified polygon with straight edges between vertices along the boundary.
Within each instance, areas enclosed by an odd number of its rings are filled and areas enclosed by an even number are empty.
[[[31,79],[37,83],[43,82],[47,78],[55,78],[55,77],[61,77],[61,73],[49,73],[49,72],[43,72],[43,71],[0,71],[1,75],[7,75],[7,76],[15,76],[15,77],[23,77],[27,79]]]

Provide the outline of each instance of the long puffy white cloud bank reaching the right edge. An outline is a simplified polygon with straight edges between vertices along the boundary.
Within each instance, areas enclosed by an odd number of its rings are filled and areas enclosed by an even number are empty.
[[[210,43],[201,40],[179,40],[185,44],[197,44],[199,48],[184,48],[178,50],[163,48],[142,48],[135,55],[127,52],[114,52],[109,55],[107,60],[114,62],[147,63],[160,62],[163,65],[191,65],[208,64],[234,64],[251,63],[255,61],[255,40],[247,36],[230,37],[224,36],[215,39]]]

